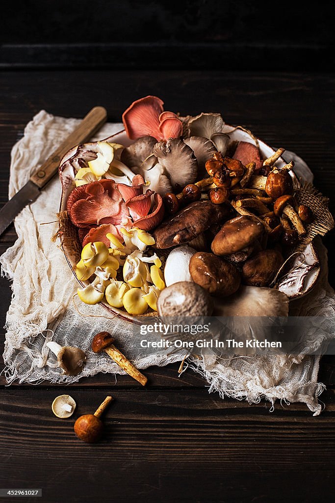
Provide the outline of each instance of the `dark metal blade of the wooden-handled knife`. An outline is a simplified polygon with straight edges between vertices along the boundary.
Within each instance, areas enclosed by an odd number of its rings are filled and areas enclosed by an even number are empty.
[[[13,222],[27,204],[33,203],[41,194],[40,189],[29,180],[0,210],[0,235]]]

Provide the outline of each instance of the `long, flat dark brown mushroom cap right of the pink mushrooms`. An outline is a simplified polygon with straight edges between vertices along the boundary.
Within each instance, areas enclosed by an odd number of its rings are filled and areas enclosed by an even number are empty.
[[[170,248],[176,244],[187,243],[208,229],[212,223],[220,221],[227,213],[227,208],[211,201],[195,201],[154,230],[155,247]]]

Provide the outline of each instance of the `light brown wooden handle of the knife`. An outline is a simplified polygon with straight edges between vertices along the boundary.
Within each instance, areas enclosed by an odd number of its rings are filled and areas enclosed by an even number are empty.
[[[85,142],[100,129],[107,120],[107,112],[103,107],[94,107],[83,118],[79,126],[66,138],[63,143],[42,164],[37,173],[30,177],[42,189],[58,172],[59,161],[70,148]]]

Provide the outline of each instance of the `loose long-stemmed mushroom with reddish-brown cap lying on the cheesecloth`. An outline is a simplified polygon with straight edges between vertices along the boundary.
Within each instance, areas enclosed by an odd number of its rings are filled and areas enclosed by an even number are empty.
[[[142,386],[147,384],[148,379],[114,346],[115,339],[108,332],[97,333],[92,340],[92,351],[100,353],[104,351],[114,360],[127,374],[136,379]]]

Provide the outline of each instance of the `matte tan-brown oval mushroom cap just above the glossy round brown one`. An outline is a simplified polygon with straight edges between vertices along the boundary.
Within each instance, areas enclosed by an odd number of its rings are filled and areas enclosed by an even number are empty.
[[[241,251],[261,237],[264,227],[258,220],[240,216],[228,220],[215,235],[211,249],[215,255],[230,255]]]

